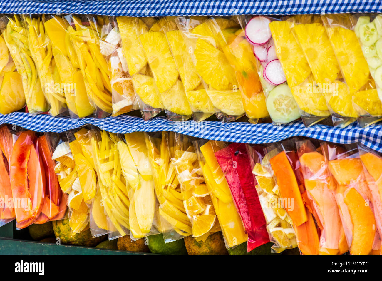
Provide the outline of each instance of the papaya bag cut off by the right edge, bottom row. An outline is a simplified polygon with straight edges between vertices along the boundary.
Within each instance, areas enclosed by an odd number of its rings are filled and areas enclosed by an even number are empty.
[[[358,143],[359,158],[362,161],[364,167],[364,173],[366,176],[367,185],[369,185],[369,190],[371,192],[371,200],[374,211],[374,218],[376,219],[377,232],[379,237],[382,239],[382,200],[380,198],[381,190],[381,172],[380,164],[382,163],[382,154],[374,151],[366,146]],[[380,249],[377,248],[378,244],[374,241],[373,253],[381,254]],[[374,250],[375,249],[375,250]]]

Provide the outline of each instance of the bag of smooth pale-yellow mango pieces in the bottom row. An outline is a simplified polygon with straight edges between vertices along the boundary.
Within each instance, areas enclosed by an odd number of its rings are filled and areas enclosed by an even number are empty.
[[[154,176],[143,132],[125,134],[118,144],[123,174],[129,183],[130,238],[138,240],[162,229],[155,197]]]

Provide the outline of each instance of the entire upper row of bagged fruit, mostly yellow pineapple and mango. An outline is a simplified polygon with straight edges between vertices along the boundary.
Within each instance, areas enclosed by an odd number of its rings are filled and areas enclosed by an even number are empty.
[[[382,16],[7,15],[0,113],[380,121]],[[17,72],[15,72],[17,69]],[[18,74],[17,74],[18,73]]]

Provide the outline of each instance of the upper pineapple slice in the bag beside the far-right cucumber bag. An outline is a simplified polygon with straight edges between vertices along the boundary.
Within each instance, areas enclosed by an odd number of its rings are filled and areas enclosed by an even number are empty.
[[[350,92],[358,91],[369,80],[369,67],[363,56],[356,34],[353,30],[339,26],[327,28],[343,78]]]

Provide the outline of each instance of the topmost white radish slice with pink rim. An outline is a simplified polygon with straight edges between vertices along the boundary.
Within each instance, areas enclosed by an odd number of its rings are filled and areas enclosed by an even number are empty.
[[[245,27],[245,36],[255,45],[267,43],[272,36],[269,28],[270,19],[264,16],[252,18]]]

